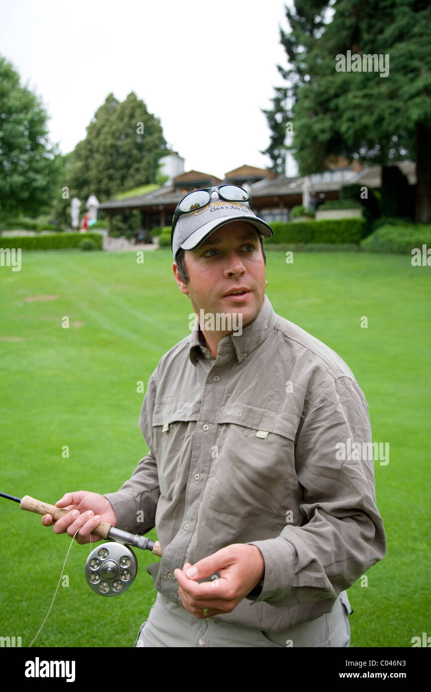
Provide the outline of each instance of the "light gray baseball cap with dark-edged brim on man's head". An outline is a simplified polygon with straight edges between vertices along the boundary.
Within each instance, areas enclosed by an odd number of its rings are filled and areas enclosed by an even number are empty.
[[[266,237],[274,235],[273,229],[250,209],[248,201],[226,201],[214,191],[204,207],[178,217],[172,238],[174,260],[180,248],[196,250],[208,235],[230,221],[248,221]]]

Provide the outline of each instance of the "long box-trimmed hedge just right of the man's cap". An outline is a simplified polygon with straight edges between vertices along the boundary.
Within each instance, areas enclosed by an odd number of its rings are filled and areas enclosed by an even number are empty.
[[[322,219],[321,221],[272,221],[273,238],[265,243],[356,243],[364,237],[365,219]]]

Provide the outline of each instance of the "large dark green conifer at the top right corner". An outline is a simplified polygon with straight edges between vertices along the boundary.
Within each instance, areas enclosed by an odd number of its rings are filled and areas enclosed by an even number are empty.
[[[416,161],[416,220],[431,221],[431,50],[428,0],[336,0],[322,25],[323,3],[295,0],[282,42],[293,78],[293,149],[300,174],[321,172],[328,156],[385,167]],[[341,55],[388,56],[380,69],[337,71]],[[385,59],[386,60],[386,59]]]

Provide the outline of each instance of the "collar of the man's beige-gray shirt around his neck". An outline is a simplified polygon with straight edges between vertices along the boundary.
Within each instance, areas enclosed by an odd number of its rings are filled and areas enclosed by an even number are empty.
[[[269,336],[270,332],[274,329],[276,320],[277,315],[273,310],[273,306],[269,302],[268,296],[265,295],[264,303],[255,321],[252,322],[251,325],[243,327],[242,334],[239,334],[238,336],[234,336],[233,334],[224,336],[221,341],[219,341],[218,352],[220,352],[221,348],[223,347],[228,349],[233,345],[235,347],[235,354],[237,356],[238,363],[241,363],[241,361],[244,361],[244,358],[246,358],[248,354],[260,346]],[[215,358],[212,358],[209,349],[203,345],[201,329],[192,329],[189,347],[190,361],[193,365],[196,365],[196,362],[201,356],[211,358],[215,361]]]

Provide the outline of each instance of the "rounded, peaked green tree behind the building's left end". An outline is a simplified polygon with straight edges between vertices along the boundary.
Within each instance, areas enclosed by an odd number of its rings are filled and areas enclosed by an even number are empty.
[[[131,92],[124,102],[110,93],[86,128],[86,138],[71,156],[71,197],[99,201],[138,185],[154,183],[165,153],[161,122]]]

